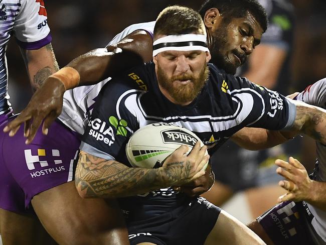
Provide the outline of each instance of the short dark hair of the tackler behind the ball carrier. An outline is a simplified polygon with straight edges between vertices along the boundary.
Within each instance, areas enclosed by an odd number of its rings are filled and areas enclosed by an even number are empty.
[[[199,10],[204,19],[206,11],[216,8],[227,20],[245,17],[251,13],[265,32],[268,25],[267,14],[257,0],[206,0]]]

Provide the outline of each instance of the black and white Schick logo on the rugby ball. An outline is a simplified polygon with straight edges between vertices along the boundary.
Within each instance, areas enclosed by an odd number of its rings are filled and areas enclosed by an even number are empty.
[[[197,142],[195,137],[182,130],[162,131],[161,136],[164,143],[186,144],[193,147]]]

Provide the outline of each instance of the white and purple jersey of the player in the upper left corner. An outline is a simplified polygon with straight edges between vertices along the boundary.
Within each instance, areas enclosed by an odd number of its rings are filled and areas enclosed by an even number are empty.
[[[16,37],[23,49],[39,49],[51,42],[43,0],[0,1],[0,114],[10,109],[7,92],[7,43]]]

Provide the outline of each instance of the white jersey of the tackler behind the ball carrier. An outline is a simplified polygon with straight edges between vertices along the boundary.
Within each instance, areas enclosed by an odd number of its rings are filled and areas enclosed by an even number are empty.
[[[108,45],[119,42],[136,30],[145,30],[152,35],[154,26],[154,21],[131,25],[116,35]],[[83,135],[96,97],[110,79],[109,77],[95,85],[67,90],[63,97],[63,108],[59,119],[71,130]]]

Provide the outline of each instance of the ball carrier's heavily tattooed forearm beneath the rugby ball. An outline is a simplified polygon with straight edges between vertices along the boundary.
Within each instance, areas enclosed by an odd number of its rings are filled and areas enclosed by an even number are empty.
[[[83,197],[132,196],[180,183],[189,172],[187,164],[184,168],[180,163],[169,165],[166,169],[128,168],[117,161],[106,161],[81,152],[75,183]]]

